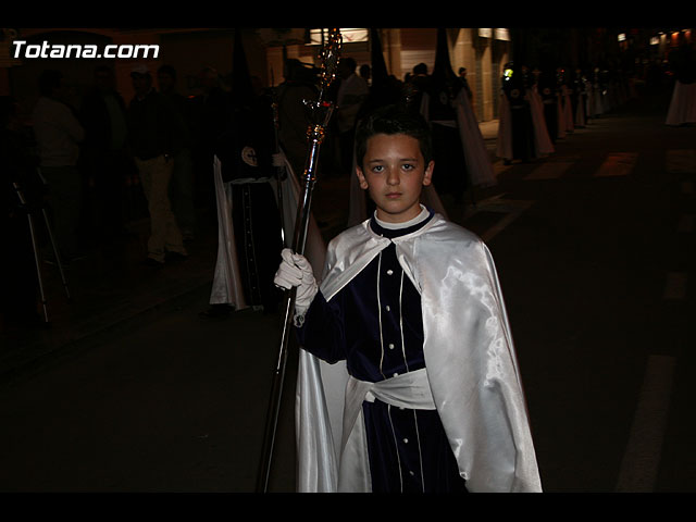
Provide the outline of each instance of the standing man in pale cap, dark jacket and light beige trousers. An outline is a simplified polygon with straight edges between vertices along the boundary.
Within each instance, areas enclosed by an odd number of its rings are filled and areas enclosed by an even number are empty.
[[[169,197],[177,152],[174,150],[177,119],[166,99],[152,87],[147,65],[136,65],[130,77],[135,96],[128,108],[128,135],[150,212],[146,262],[162,266],[167,259],[187,256]]]

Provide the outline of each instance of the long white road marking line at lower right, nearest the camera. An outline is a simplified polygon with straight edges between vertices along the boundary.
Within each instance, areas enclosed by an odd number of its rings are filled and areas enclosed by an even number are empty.
[[[652,493],[672,393],[674,358],[650,356],[623,455],[617,492]]]

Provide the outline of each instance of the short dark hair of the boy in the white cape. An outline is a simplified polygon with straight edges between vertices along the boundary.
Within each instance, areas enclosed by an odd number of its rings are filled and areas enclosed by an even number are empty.
[[[425,119],[421,114],[408,111],[399,105],[386,105],[374,110],[358,123],[358,128],[356,129],[356,160],[358,166],[362,167],[362,161],[368,151],[368,140],[376,134],[405,134],[411,136],[418,139],[425,164],[427,165],[433,159],[431,129]]]

